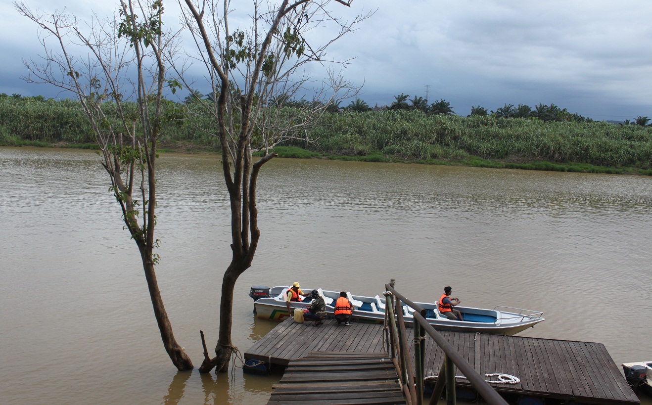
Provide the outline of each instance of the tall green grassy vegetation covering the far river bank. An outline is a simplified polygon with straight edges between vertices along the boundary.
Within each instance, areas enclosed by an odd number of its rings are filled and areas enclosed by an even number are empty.
[[[211,121],[189,108],[186,124],[162,136],[162,151],[216,151]],[[277,147],[281,157],[458,164],[593,173],[652,174],[652,128],[420,111],[327,113],[310,137]],[[70,100],[0,98],[0,145],[93,147]]]

